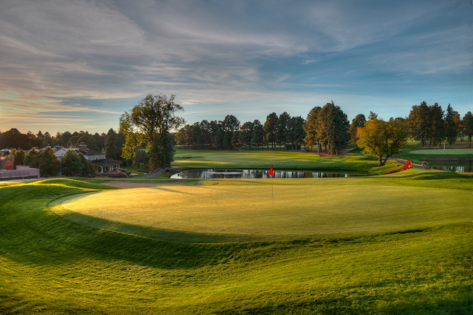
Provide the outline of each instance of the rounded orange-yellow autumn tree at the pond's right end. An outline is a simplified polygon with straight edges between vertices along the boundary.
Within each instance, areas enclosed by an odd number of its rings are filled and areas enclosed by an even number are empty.
[[[404,122],[394,119],[385,122],[374,118],[365,122],[364,127],[358,127],[356,144],[363,149],[364,155],[374,156],[378,159],[378,166],[382,166],[389,157],[402,151],[407,135]]]

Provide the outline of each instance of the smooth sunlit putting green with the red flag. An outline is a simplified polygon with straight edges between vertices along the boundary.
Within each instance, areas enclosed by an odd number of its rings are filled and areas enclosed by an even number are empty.
[[[468,190],[236,182],[110,190],[73,197],[62,205],[80,214],[68,219],[92,226],[96,218],[166,231],[267,239],[402,231],[471,220]]]

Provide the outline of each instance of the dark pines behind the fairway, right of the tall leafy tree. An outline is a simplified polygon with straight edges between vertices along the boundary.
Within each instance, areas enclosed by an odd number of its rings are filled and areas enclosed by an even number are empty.
[[[378,119],[373,112],[368,118]],[[427,106],[422,102],[412,107],[408,117],[390,118],[390,121],[401,124],[407,136],[420,140],[422,146],[439,145],[444,140],[453,144],[458,137],[463,141],[465,136],[471,141],[473,135],[472,113],[467,112],[461,118],[450,104],[444,112],[438,103]],[[325,152],[338,155],[348,143],[356,143],[357,128],[363,127],[365,122],[366,117],[358,114],[350,124],[347,115],[332,101],[324,107],[312,108],[306,119],[291,117],[287,112],[279,116],[272,112],[263,124],[259,120],[240,124],[234,115],[227,115],[220,121],[202,120],[179,129],[176,142],[184,148],[200,150],[235,150],[242,146],[274,149],[275,144],[286,143],[291,143],[295,149],[299,143],[304,143],[307,150],[315,146],[317,152],[324,148]]]

